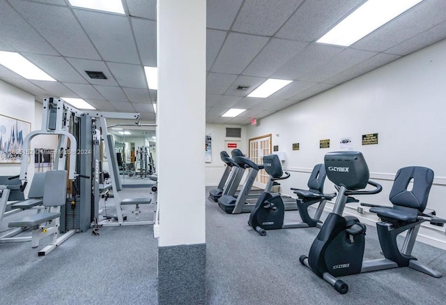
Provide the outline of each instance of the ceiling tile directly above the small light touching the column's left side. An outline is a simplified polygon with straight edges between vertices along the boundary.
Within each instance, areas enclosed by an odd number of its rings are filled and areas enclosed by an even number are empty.
[[[134,38],[137,40],[139,56],[144,66],[157,66],[156,22],[132,18]]]

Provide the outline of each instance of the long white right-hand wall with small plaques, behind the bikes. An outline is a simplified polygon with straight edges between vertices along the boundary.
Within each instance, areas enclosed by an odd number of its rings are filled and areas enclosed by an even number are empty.
[[[328,151],[340,150],[341,137],[351,137],[367,160],[371,179],[383,185],[378,195],[358,196],[362,202],[390,204],[399,168],[431,168],[436,178],[428,208],[446,218],[445,53],[443,40],[261,119],[259,126],[247,127],[247,138],[272,133],[272,144],[286,152],[283,165],[291,178],[281,184],[289,194],[291,187],[306,187],[312,167],[323,163]],[[379,144],[362,146],[361,136],[367,133],[378,133]],[[324,139],[330,139],[330,149],[319,149]],[[292,150],[295,142],[299,151]],[[326,181],[325,191],[333,189]],[[346,212],[355,214],[355,209]],[[369,223],[377,220],[375,214],[355,215]],[[420,241],[446,248],[445,229],[422,228]]]

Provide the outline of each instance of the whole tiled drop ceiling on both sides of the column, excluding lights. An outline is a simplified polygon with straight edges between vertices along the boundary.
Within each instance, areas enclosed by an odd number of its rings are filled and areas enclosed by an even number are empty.
[[[362,3],[208,0],[206,122],[249,124],[446,38],[446,1],[424,0],[350,47],[314,43]],[[26,80],[3,66],[0,80],[36,101],[84,98],[101,111],[155,121],[157,92],[143,66],[157,64],[156,0],[123,4],[125,15],[116,15],[68,0],[0,0],[0,50],[19,52],[57,82]],[[269,98],[246,97],[268,77],[293,82]],[[247,111],[221,117],[231,107]]]

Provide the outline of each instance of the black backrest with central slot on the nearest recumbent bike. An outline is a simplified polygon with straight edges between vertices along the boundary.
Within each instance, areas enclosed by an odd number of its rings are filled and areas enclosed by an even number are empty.
[[[408,191],[410,180],[413,179],[413,187]],[[420,212],[424,211],[433,182],[433,170],[421,166],[409,166],[401,168],[397,172],[389,199],[392,204],[412,207]]]

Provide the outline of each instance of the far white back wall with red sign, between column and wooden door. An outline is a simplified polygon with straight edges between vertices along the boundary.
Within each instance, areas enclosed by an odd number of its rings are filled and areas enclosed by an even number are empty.
[[[241,137],[226,137],[226,128],[242,128]],[[212,137],[212,162],[206,163],[206,186],[217,186],[224,172],[224,163],[220,158],[220,151],[226,150],[231,156],[232,148],[225,147],[224,141],[237,142],[240,141],[240,149],[243,154],[248,155],[246,128],[240,125],[219,125],[206,124],[206,135]],[[205,137],[203,136],[203,144]],[[203,149],[204,160],[204,149]]]

